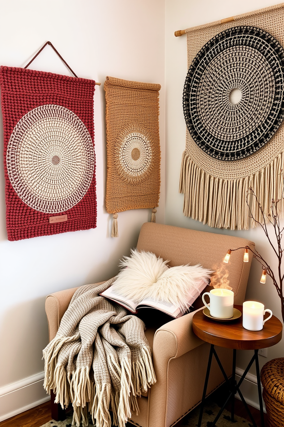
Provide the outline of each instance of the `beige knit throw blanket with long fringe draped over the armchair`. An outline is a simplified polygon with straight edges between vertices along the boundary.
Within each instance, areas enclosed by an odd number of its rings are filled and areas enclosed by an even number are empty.
[[[44,388],[56,403],[73,404],[73,424],[125,426],[138,414],[137,396],[156,382],[141,319],[100,296],[115,278],[80,287],[63,315],[54,339],[43,350]]]

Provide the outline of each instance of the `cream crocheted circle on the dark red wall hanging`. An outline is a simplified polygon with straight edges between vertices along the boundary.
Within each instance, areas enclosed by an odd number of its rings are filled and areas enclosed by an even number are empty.
[[[79,117],[60,105],[41,105],[23,116],[10,137],[6,163],[20,199],[36,211],[75,206],[91,185],[92,138]]]

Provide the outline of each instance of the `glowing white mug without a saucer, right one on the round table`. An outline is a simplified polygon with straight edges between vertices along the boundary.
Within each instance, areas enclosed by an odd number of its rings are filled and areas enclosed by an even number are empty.
[[[267,319],[263,320],[264,313],[270,313]],[[248,330],[261,330],[264,323],[270,319],[272,311],[268,308],[264,310],[264,304],[257,301],[245,301],[243,304],[243,327]]]

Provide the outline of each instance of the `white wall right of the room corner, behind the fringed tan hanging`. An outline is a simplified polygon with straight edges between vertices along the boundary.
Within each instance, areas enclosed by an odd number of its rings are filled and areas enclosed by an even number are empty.
[[[230,234],[245,237],[256,243],[258,252],[268,260],[270,266],[276,268],[273,253],[268,241],[260,228],[249,231],[230,231],[210,228],[203,223],[187,218],[183,215],[183,194],[178,193],[179,174],[181,167],[181,155],[185,148],[185,122],[182,109],[182,93],[184,80],[187,73],[186,68],[186,35],[175,37],[174,32],[191,26],[201,25],[229,16],[249,12],[262,7],[277,4],[277,0],[166,0],[166,224],[178,225],[213,233]],[[272,230],[271,230],[272,231]],[[262,301],[266,308],[273,310],[275,316],[281,319],[280,298],[276,294],[270,278],[267,284],[259,283],[261,277],[261,266],[256,260],[252,261],[252,268],[247,287],[246,299]],[[268,358],[260,357],[260,367],[267,360],[274,357],[283,357],[283,341],[268,349]],[[252,356],[250,351],[238,352],[238,372],[244,370],[248,359]],[[250,370],[255,379],[255,370]],[[251,403],[257,406],[257,395],[255,387],[250,387],[247,382],[247,397]],[[254,394],[253,394],[254,393]]]

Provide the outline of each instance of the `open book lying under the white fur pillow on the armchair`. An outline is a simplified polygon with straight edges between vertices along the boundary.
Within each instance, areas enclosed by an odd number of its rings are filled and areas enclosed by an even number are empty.
[[[194,303],[196,298],[198,298],[198,296],[206,286],[207,286],[207,283],[204,282],[203,287],[201,287],[198,290],[194,290],[192,294],[189,295],[189,298],[187,301],[188,308]],[[119,295],[118,292],[116,292],[115,289],[113,289],[113,285],[110,286],[105,291],[103,291],[100,295],[122,305],[132,313],[137,313],[137,310],[139,308],[155,308],[156,310],[163,311],[164,313],[169,314],[169,316],[172,316],[175,318],[181,317],[184,314],[184,311],[181,311],[179,307],[166,301],[155,301],[154,299],[144,298],[142,301],[135,303],[132,300],[127,299],[122,295]]]

